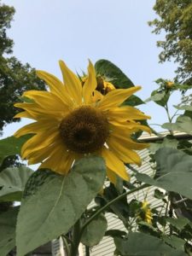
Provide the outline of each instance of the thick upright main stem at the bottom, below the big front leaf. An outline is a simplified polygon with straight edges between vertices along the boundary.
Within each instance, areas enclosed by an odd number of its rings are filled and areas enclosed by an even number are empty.
[[[73,226],[73,243],[71,244],[71,252],[70,256],[77,256],[78,255],[78,248],[80,243],[80,219],[74,224]]]

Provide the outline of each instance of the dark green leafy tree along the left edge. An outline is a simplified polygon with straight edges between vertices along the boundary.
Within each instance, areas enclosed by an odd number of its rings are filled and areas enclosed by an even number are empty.
[[[3,126],[14,119],[17,112],[14,103],[25,90],[44,90],[45,84],[38,79],[35,69],[28,63],[23,65],[15,56],[7,57],[13,53],[14,41],[7,36],[7,29],[13,20],[15,9],[2,4],[0,0],[0,131]],[[6,56],[5,56],[6,55]]]

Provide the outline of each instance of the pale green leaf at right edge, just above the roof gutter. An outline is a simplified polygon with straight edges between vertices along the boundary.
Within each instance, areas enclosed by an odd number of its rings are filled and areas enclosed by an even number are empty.
[[[172,131],[183,131],[192,134],[192,119],[189,116],[181,115],[177,118],[176,123],[165,123],[161,127]]]

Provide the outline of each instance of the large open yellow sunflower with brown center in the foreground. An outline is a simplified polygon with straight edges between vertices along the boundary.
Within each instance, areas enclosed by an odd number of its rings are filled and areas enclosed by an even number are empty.
[[[15,137],[33,134],[22,146],[21,157],[29,165],[41,163],[39,168],[67,175],[75,160],[100,155],[112,183],[117,175],[129,180],[124,163],[140,166],[141,159],[132,149],[148,146],[132,141],[134,132],[149,131],[135,120],[149,117],[137,108],[119,106],[141,87],[115,89],[102,96],[96,90],[95,68],[90,61],[83,86],[63,61],[59,63],[63,83],[50,73],[38,71],[38,78],[44,79],[49,91],[28,90],[23,96],[30,102],[15,104],[24,110],[15,118],[35,120],[15,132]]]

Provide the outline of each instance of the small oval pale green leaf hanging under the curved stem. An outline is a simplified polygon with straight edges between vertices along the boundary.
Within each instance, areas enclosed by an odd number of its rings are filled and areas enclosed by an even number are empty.
[[[94,218],[89,225],[86,226],[81,238],[81,242],[87,247],[95,246],[102,240],[102,237],[105,235],[107,228],[107,219],[103,214],[100,214]]]

